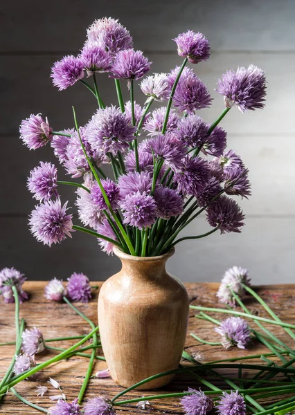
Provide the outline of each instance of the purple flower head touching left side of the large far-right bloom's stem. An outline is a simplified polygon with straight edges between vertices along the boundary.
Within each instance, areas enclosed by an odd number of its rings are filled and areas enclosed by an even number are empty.
[[[208,136],[208,124],[203,118],[192,114],[185,118],[180,118],[177,124],[177,136],[189,147],[199,147],[204,145]]]

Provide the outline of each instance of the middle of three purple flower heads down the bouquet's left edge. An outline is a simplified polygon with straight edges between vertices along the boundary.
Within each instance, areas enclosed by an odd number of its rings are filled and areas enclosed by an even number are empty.
[[[34,194],[38,201],[48,201],[57,193],[57,168],[51,163],[40,162],[38,167],[30,171],[28,190]]]

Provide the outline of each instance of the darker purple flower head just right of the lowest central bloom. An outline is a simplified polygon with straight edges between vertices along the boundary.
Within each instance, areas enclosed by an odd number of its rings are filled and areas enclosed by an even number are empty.
[[[184,199],[173,189],[159,186],[154,190],[154,200],[157,205],[157,216],[170,219],[184,211]]]

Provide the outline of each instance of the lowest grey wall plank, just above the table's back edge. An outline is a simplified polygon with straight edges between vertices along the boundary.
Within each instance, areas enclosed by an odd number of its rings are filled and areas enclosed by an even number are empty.
[[[95,237],[75,232],[60,245],[43,246],[28,230],[28,219],[0,218],[0,269],[25,273],[28,279],[66,279],[74,271],[93,281],[104,280],[119,269],[116,257],[100,251]],[[294,281],[295,218],[249,217],[241,234],[215,232],[204,239],[184,241],[168,261],[168,269],[184,282],[219,281],[234,265],[249,268],[254,284]],[[208,231],[204,217],[181,234]]]

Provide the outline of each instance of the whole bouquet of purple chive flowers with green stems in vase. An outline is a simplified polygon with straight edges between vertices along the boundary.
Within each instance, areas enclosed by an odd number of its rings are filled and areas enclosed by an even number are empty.
[[[38,241],[51,246],[77,230],[97,237],[107,254],[118,246],[130,255],[153,257],[184,239],[217,230],[240,232],[244,214],[231,196],[251,194],[248,170],[235,151],[226,149],[226,131],[218,124],[232,107],[242,112],[264,107],[265,73],[250,65],[222,75],[216,91],[224,96],[225,109],[209,124],[199,110],[210,107],[213,98],[187,66],[210,57],[208,39],[188,30],[173,40],[182,64],[170,73],[145,77],[152,62],[134,50],[126,28],[103,18],[87,29],[78,56],[55,62],[53,84],[63,90],[80,81],[94,95],[98,110],[81,127],[73,109],[75,127],[64,131],[53,131],[40,114],[21,122],[21,139],[29,149],[49,142],[67,174],[82,179],[59,181],[51,163],[41,162],[30,172],[28,189],[40,202],[30,215],[30,230]],[[105,104],[100,95],[101,72],[114,78],[118,106]],[[127,102],[120,82],[127,82]],[[146,96],[143,107],[134,101],[138,86]],[[156,101],[166,105],[152,109]],[[105,165],[111,165],[113,176],[106,176]],[[67,202],[60,201],[60,185],[77,187],[84,227],[73,224]],[[179,238],[202,212],[211,229]]]

